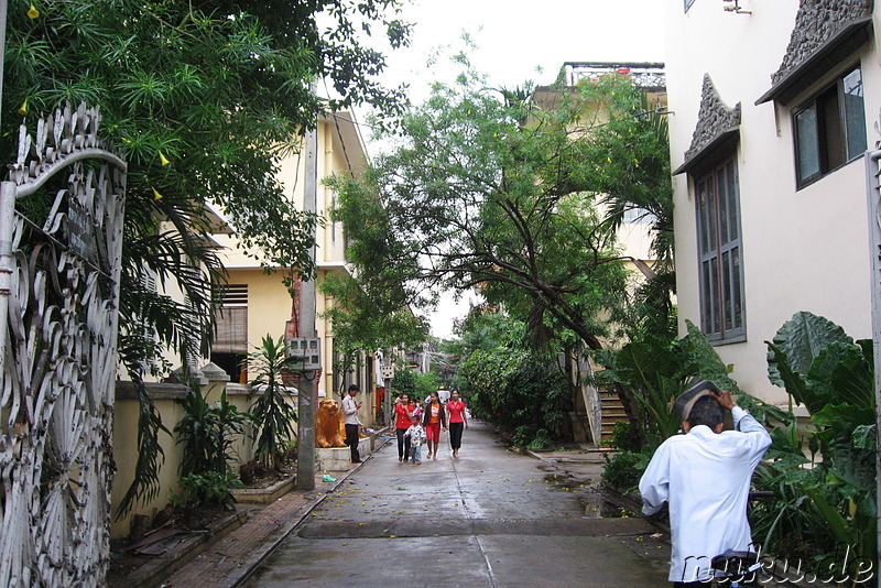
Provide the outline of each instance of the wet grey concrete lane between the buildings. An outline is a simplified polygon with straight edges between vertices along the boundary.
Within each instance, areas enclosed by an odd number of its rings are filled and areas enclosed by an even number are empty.
[[[459,459],[446,434],[442,446],[416,466],[392,439],[244,586],[668,586],[667,544],[639,518],[600,516],[589,477],[507,450],[479,423]]]

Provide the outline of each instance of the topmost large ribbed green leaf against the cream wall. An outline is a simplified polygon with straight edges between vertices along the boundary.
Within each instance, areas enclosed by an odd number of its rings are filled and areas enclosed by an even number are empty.
[[[794,372],[806,374],[817,353],[836,341],[853,344],[853,339],[848,337],[845,329],[831,320],[807,311],[800,311],[780,327],[772,342],[786,356]],[[777,358],[771,351],[768,353],[768,377],[773,384],[785,385]]]

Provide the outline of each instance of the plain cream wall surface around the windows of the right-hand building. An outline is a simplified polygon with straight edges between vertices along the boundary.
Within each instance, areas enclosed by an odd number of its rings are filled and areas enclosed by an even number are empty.
[[[870,269],[862,160],[796,192],[790,109],[840,74],[830,70],[785,107],[757,106],[780,68],[798,10],[797,0],[742,0],[752,14],[696,0],[667,0],[667,92],[673,168],[683,163],[697,124],[701,85],[709,73],[728,107],[741,105],[738,171],[746,292],[747,341],[720,345],[744,390],[785,402],[766,377],[766,346],[797,311],[841,325],[855,338],[871,336]],[[875,19],[878,20],[878,19]],[[877,28],[877,24],[875,24]],[[861,53],[870,146],[881,106],[881,70],[874,43]],[[855,56],[856,59],[856,56]],[[850,62],[848,62],[850,63]],[[841,64],[842,66],[846,64]],[[699,326],[697,236],[693,182],[674,177],[676,271],[681,333],[685,319]]]

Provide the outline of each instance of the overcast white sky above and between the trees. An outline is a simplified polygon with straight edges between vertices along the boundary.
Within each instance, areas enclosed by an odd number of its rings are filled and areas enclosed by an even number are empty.
[[[385,84],[407,83],[414,101],[426,98],[432,81],[454,75],[445,65],[426,67],[429,56],[443,46],[463,48],[463,32],[477,45],[469,52],[471,63],[496,86],[551,84],[564,62],[663,62],[665,6],[662,0],[414,0],[402,17],[415,23],[412,43],[388,56]],[[467,301],[454,304],[445,296],[431,317],[432,335],[450,338],[453,320],[467,311]]]

